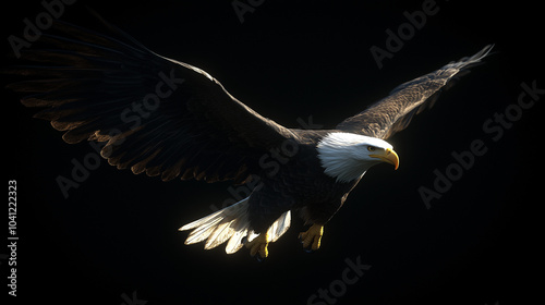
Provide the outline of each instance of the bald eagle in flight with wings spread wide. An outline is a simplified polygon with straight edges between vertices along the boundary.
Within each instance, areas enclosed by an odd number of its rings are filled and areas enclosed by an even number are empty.
[[[56,21],[57,34],[40,37],[47,48],[22,51],[20,61],[33,64],[7,69],[31,78],[9,87],[25,94],[24,106],[45,108],[35,117],[63,131],[66,143],[104,143],[101,156],[118,169],[252,185],[249,197],[180,230],[192,230],[185,244],[227,243],[228,254],[245,245],[259,259],[289,229],[292,211],[311,224],[300,234],[303,247],[319,248],[324,225],[365,172],[380,162],[398,168],[386,139],[492,49],[397,86],[334,129],[300,130],[262,117],[207,72],[104,24],[108,34]],[[281,148],[289,156],[271,171],[264,156]]]

